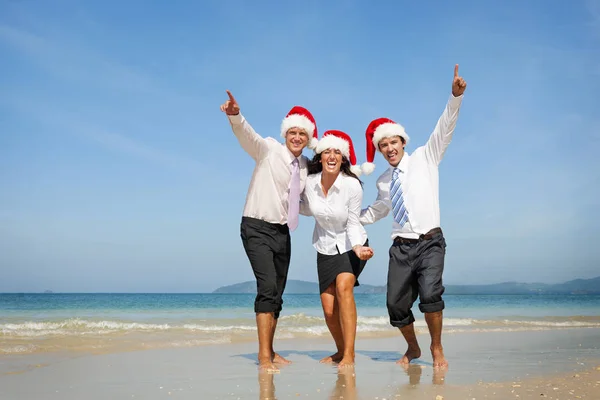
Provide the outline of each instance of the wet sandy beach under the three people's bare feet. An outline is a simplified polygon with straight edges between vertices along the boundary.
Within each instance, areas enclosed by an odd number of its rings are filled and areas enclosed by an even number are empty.
[[[419,335],[423,350],[428,336]],[[427,351],[409,367],[395,361],[399,337],[359,339],[356,367],[319,364],[327,339],[289,339],[293,361],[259,373],[256,344],[234,343],[111,354],[43,353],[0,359],[0,398],[12,399],[598,399],[600,329],[448,334],[447,371]],[[579,396],[579,397],[578,397]]]

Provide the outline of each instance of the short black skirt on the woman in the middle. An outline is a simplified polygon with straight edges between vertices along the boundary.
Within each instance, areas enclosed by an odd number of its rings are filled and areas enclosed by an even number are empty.
[[[364,246],[369,245],[369,240],[365,242]],[[356,283],[354,286],[360,286],[358,283],[358,276],[367,265],[366,260],[361,260],[354,253],[354,250],[342,254],[321,254],[317,252],[317,273],[319,275],[319,293],[323,293],[329,285],[335,282],[335,278],[342,272],[349,272],[354,274],[356,277]]]

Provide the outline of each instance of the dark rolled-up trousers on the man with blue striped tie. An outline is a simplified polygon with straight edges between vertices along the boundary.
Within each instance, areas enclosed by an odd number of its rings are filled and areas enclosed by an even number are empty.
[[[444,258],[446,240],[440,231],[413,243],[394,242],[389,251],[387,309],[392,326],[402,328],[415,321],[412,306],[432,313],[444,309]]]

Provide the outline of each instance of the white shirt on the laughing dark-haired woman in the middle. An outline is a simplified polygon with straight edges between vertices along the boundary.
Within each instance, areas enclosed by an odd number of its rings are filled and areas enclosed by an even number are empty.
[[[321,173],[309,175],[300,202],[300,213],[315,218],[313,246],[321,254],[343,254],[367,241],[367,232],[358,220],[363,190],[358,179],[340,173],[327,192],[321,187]]]

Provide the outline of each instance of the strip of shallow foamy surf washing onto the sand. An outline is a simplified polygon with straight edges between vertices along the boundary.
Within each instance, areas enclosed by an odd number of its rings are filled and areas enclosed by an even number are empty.
[[[599,329],[600,316],[476,319],[446,317],[444,336],[470,333],[544,332],[565,329]],[[415,322],[418,335],[427,335],[423,319]],[[386,317],[359,316],[358,339],[384,339],[398,335]],[[322,316],[292,314],[281,318],[276,340],[327,340],[330,334]],[[5,321],[0,324],[0,360],[6,356],[75,352],[118,353],[158,348],[193,348],[230,345],[256,340],[255,321],[249,318],[169,321],[69,318],[45,321]]]

